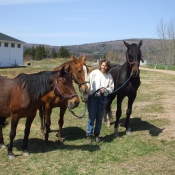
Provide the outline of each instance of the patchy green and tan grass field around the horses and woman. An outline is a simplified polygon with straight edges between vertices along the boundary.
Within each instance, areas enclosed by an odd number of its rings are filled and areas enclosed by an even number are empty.
[[[60,60],[54,60],[61,64]],[[47,62],[47,60],[46,60]],[[54,63],[54,67],[56,66]],[[46,63],[19,69],[0,69],[0,75],[13,77],[19,72],[37,72],[45,70]],[[40,65],[40,66],[39,66]],[[51,63],[50,63],[51,65]],[[51,66],[48,69],[52,69]],[[133,175],[171,175],[175,174],[175,137],[171,131],[175,124],[169,117],[169,108],[165,100],[174,96],[175,77],[152,71],[141,71],[141,86],[133,105],[130,120],[131,135],[125,135],[125,110],[127,99],[123,102],[123,115],[120,120],[119,135],[114,138],[113,127],[102,125],[100,144],[86,145],[86,116],[78,119],[68,110],[63,127],[64,144],[58,144],[56,130],[59,108],[52,112],[53,132],[49,143],[45,144],[40,136],[40,121],[37,113],[31,127],[29,138],[29,157],[22,156],[22,138],[25,119],[21,119],[14,140],[16,158],[9,160],[6,150],[0,150],[0,174],[12,175],[86,175],[86,174],[133,174]],[[168,86],[167,86],[168,85]],[[77,86],[75,86],[77,88]],[[170,101],[171,102],[171,101]],[[112,108],[115,111],[116,100]],[[84,104],[74,109],[77,115],[84,112]],[[115,112],[114,112],[115,113]],[[168,116],[167,116],[168,115]],[[5,143],[9,142],[10,126],[4,128]]]

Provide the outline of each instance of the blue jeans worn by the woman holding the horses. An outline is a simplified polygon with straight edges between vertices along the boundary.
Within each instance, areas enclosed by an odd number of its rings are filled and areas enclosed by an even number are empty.
[[[86,136],[99,136],[101,125],[102,125],[102,119],[105,112],[105,107],[107,102],[107,97],[94,97],[89,96],[88,98],[88,122],[87,122],[87,129],[86,129]],[[94,122],[95,122],[95,128],[94,128]]]

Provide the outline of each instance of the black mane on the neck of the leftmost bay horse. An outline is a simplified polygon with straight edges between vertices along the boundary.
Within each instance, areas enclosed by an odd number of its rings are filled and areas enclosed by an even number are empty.
[[[58,77],[58,71],[41,71],[34,74],[21,73],[14,78],[18,86],[27,89],[32,101],[38,100],[50,90],[51,79]]]

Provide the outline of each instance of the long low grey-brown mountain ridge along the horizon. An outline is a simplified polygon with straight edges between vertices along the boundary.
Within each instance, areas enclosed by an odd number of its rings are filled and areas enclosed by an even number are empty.
[[[140,40],[142,40],[142,53],[153,51],[155,48],[158,47],[160,43],[160,39],[124,39],[129,44],[131,43],[138,43]],[[24,50],[26,48],[31,48],[32,46],[36,47],[41,44],[29,44],[24,43]],[[57,51],[60,49],[61,46],[50,46],[50,45],[44,45],[45,47],[49,48],[50,50],[52,48],[55,48]],[[125,52],[126,47],[123,44],[123,40],[114,40],[114,41],[105,41],[105,42],[97,42],[97,43],[90,43],[90,44],[82,44],[82,45],[68,45],[65,46],[71,54],[75,55],[83,55],[86,54],[88,56],[95,56],[95,55],[104,55],[110,50],[114,51],[120,51]]]

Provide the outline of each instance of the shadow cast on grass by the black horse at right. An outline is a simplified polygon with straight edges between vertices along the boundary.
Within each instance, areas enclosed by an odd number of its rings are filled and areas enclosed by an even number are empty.
[[[120,126],[124,127],[126,118],[120,119]],[[111,125],[114,125],[115,122],[112,122]],[[149,133],[151,136],[158,136],[160,133],[163,132],[163,129],[150,124],[149,122],[141,120],[141,118],[131,118],[130,119],[130,128],[132,132],[135,131],[144,131],[144,130],[149,130]],[[120,132],[120,136],[125,135],[125,132]]]

